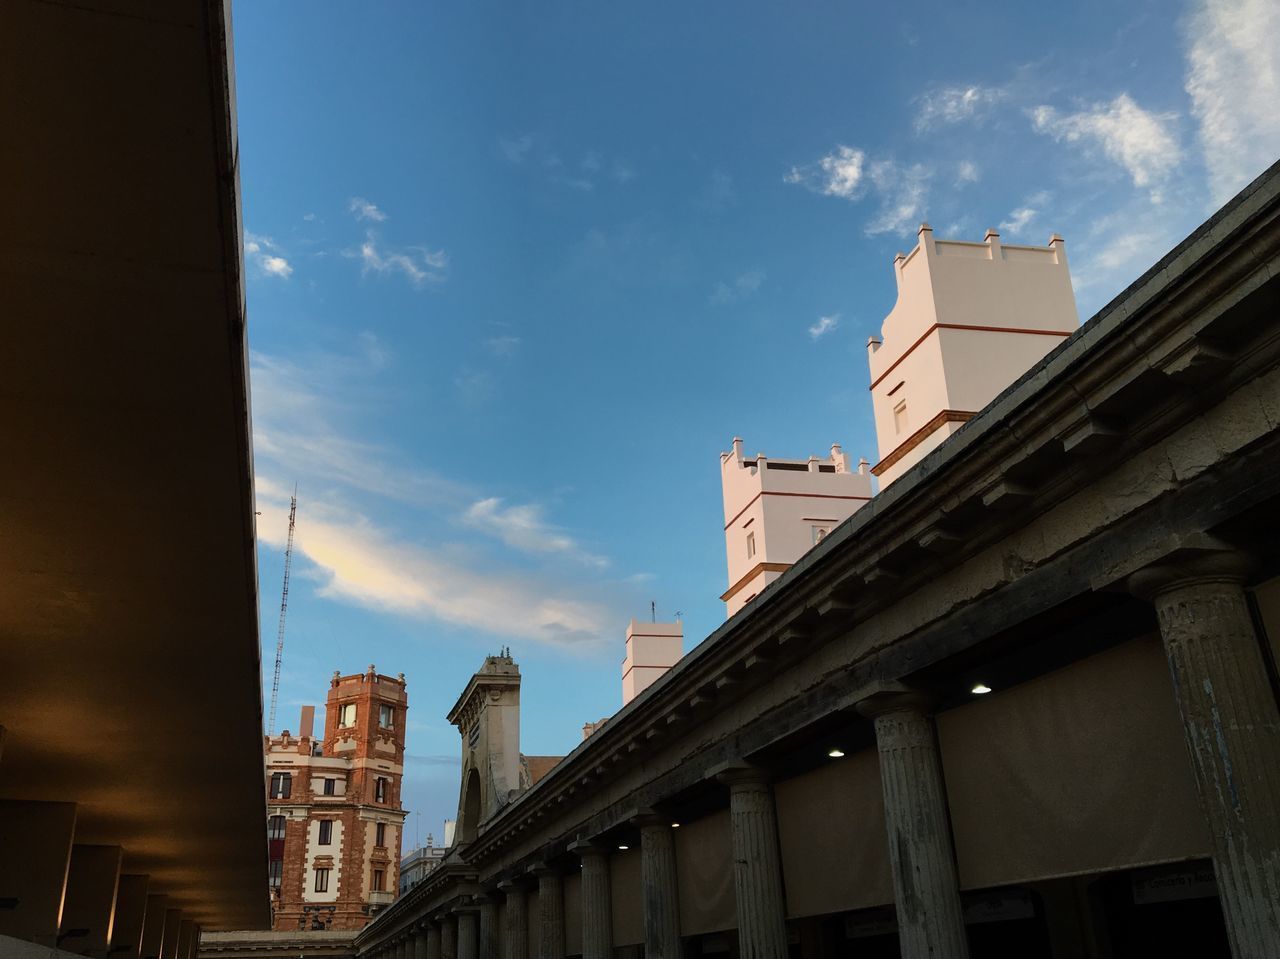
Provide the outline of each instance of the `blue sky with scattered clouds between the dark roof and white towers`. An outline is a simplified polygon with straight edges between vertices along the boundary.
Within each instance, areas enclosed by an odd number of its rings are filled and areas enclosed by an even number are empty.
[[[265,684],[410,682],[457,808],[483,657],[522,746],[621,702],[630,617],[723,621],[718,453],[874,457],[892,256],[1066,238],[1082,319],[1280,154],[1280,13],[1188,4],[237,3]],[[406,844],[407,845],[411,845]]]

